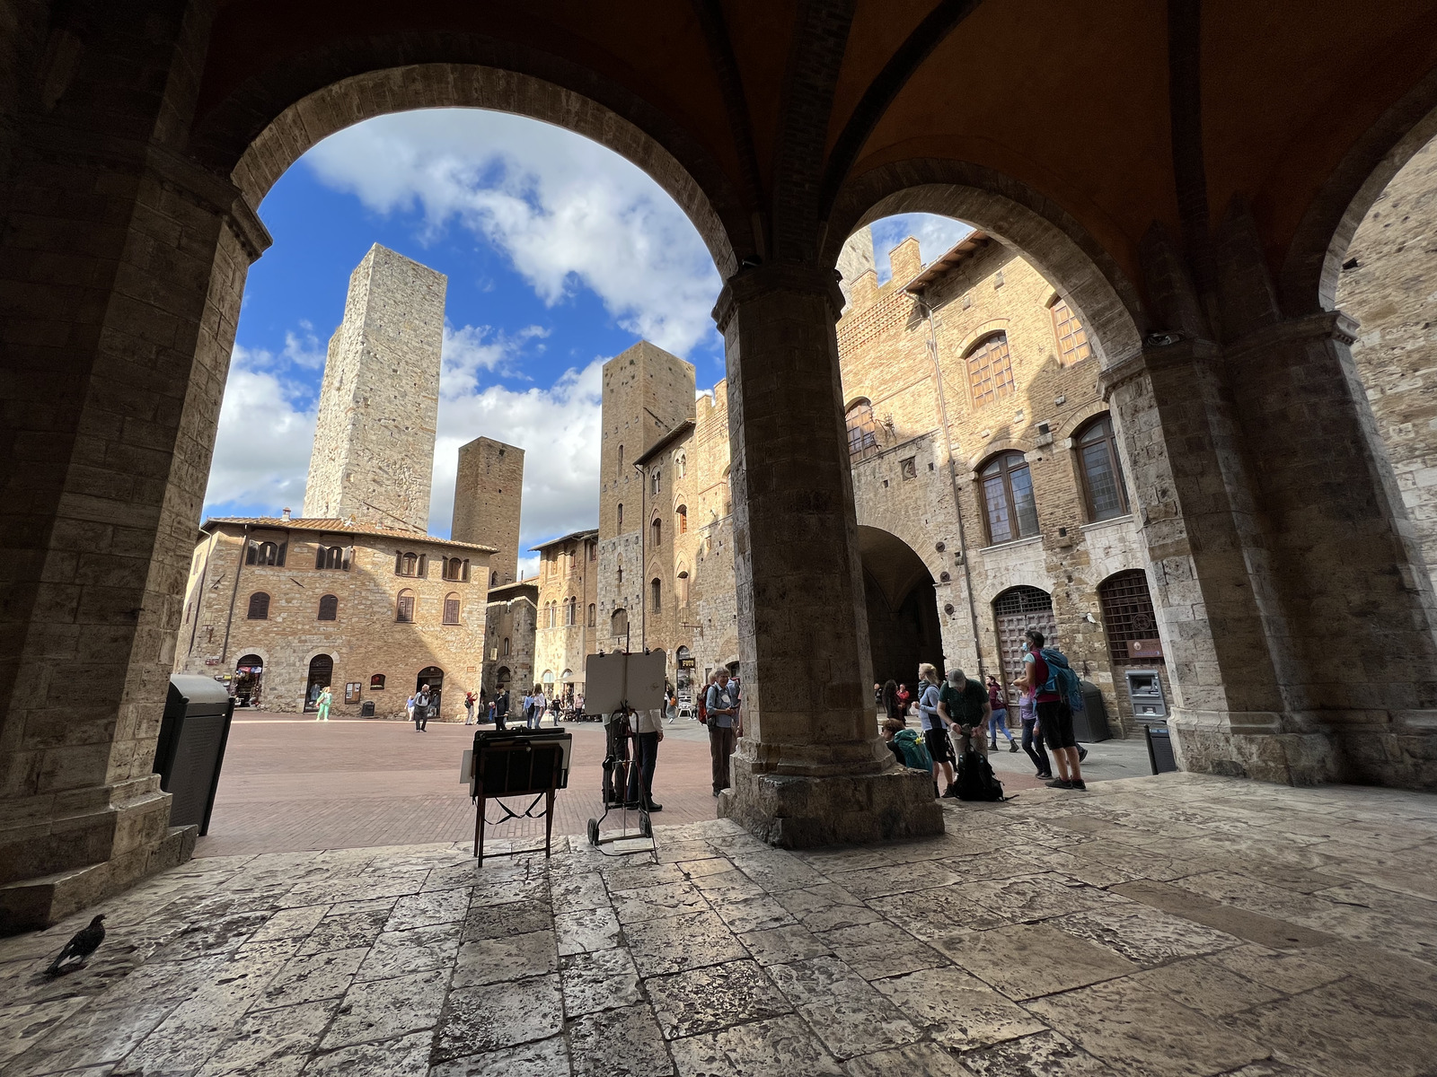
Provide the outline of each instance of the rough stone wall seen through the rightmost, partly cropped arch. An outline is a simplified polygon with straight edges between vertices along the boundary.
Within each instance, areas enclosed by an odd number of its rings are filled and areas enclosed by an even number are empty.
[[[1358,225],[1338,309],[1361,325],[1352,359],[1437,584],[1437,142]]]

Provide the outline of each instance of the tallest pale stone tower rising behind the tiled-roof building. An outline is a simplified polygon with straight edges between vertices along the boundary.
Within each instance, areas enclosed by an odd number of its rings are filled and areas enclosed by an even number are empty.
[[[428,530],[445,284],[443,273],[379,244],[349,276],[325,362],[305,516]]]

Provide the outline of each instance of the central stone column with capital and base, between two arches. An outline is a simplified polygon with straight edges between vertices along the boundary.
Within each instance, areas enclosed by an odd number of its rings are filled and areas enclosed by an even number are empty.
[[[844,428],[832,271],[741,271],[714,319],[729,435],[744,735],[718,813],[786,847],[943,831],[882,744]]]

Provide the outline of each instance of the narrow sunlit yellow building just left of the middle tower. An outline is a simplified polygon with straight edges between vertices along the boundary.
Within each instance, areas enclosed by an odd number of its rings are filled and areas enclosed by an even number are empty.
[[[585,658],[598,653],[599,533],[575,531],[533,549],[539,553],[535,684],[545,695],[582,695]]]

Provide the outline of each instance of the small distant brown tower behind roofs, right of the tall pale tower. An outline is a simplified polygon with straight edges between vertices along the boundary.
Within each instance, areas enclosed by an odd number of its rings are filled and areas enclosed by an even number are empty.
[[[525,488],[525,451],[491,438],[474,438],[458,449],[454,477],[457,543],[493,546],[489,586],[519,579],[519,504]]]

